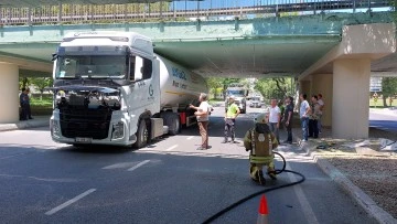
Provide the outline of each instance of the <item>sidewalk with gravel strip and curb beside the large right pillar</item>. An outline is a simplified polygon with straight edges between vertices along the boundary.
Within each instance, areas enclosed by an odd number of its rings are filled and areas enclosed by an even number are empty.
[[[302,130],[293,129],[296,142]],[[341,185],[352,199],[379,223],[397,223],[397,151],[383,151],[378,138],[395,134],[369,129],[368,139],[332,139],[323,129],[319,139],[309,139],[299,149]],[[321,146],[319,148],[319,146]]]

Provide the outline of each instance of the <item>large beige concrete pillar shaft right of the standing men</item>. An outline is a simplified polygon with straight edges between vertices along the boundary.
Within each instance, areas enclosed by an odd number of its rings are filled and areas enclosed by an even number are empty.
[[[333,73],[333,138],[367,138],[371,60],[336,60]]]

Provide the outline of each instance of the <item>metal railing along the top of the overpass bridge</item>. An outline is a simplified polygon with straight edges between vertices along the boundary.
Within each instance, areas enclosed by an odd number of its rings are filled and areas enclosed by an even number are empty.
[[[0,8],[0,25],[226,20],[390,8],[389,0],[204,0]]]

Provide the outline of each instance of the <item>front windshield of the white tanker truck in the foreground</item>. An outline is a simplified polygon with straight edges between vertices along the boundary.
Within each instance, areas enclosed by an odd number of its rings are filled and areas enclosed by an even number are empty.
[[[55,77],[124,79],[127,67],[125,55],[63,55],[57,57]]]

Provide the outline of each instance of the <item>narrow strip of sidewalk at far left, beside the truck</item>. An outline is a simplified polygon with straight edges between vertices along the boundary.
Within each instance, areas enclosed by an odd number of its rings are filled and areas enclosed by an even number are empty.
[[[50,127],[50,116],[34,116],[31,120],[21,120],[11,124],[0,124],[0,131],[26,128]]]

